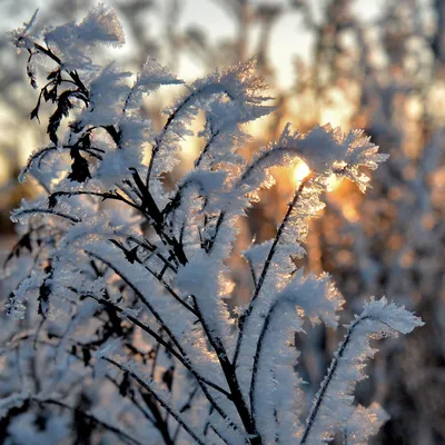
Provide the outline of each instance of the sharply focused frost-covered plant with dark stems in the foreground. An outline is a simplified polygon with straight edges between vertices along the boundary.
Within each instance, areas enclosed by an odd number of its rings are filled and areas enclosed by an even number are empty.
[[[329,178],[365,191],[360,168],[386,156],[362,131],[325,126],[300,135],[286,126],[245,160],[243,125],[273,110],[254,61],[187,87],[156,131],[142,98],[182,82],[152,59],[132,83],[115,63],[93,63],[96,44],[123,42],[112,10],[99,4],[80,24],[49,29],[34,19],[12,40],[40,88],[31,118],[42,101],[55,109],[50,144],[21,175],[32,175],[44,196],[12,216],[21,237],[7,261],[14,287],[1,333],[1,437],[259,445],[319,444],[343,432],[347,443],[366,442],[386,418],[376,405],[353,403],[375,353],[369,342],[422,322],[370,299],[347,326],[307,414],[293,336],[306,318],[337,327],[343,298],[328,276],[306,275],[297,260]],[[204,147],[171,186],[168,174],[200,111]],[[230,312],[225,261],[237,221],[273,185],[270,168],[296,160],[312,171],[275,237],[245,251],[251,299]]]

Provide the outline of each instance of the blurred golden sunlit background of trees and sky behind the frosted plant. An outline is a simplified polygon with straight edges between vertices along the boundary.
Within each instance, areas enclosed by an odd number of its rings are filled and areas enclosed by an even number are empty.
[[[362,195],[333,182],[323,218],[313,222],[307,268],[327,270],[359,310],[365,297],[386,295],[415,310],[426,326],[406,339],[386,342],[359,385],[357,402],[376,400],[392,416],[375,443],[445,444],[445,1],[444,0],[113,0],[127,46],[105,60],[137,71],[148,55],[185,80],[256,56],[277,111],[253,125],[256,141],[275,138],[290,121],[301,132],[314,125],[360,128],[390,158]],[[46,125],[29,120],[37,92],[24,61],[4,32],[40,8],[53,26],[81,19],[90,0],[0,0],[0,249],[13,244],[10,210],[39,192],[19,185],[29,154],[46,144]],[[23,56],[22,56],[23,57]],[[178,91],[156,95],[146,112],[159,111]],[[199,119],[197,121],[199,131]],[[185,141],[187,168],[199,138]],[[174,174],[180,175],[178,170]],[[281,219],[305,165],[277,171],[246,218],[245,233],[268,239]],[[175,178],[172,178],[175,179]],[[237,249],[243,250],[243,237]],[[0,259],[2,257],[0,255]],[[243,301],[243,267],[234,298]],[[350,319],[345,314],[345,320]],[[300,372],[317,387],[338,337],[323,327],[297,338]],[[309,389],[312,390],[312,389]]]

